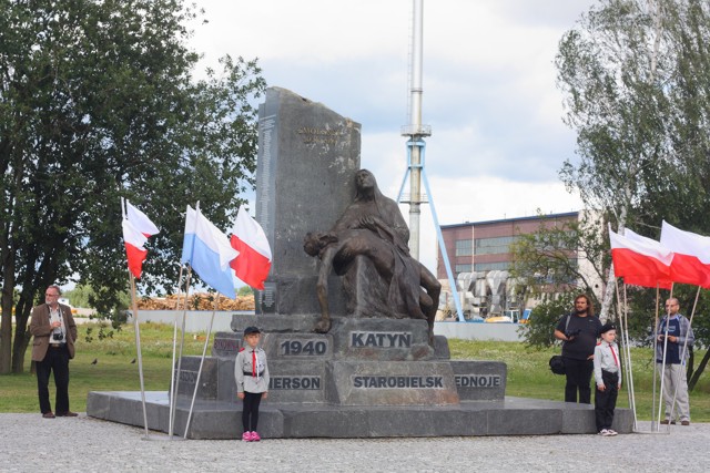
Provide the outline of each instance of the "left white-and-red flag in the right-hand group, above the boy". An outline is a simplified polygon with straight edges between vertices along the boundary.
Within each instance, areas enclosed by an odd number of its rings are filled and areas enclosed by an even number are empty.
[[[623,282],[642,287],[670,289],[670,266],[673,253],[650,238],[626,229],[621,236],[609,227],[613,274]]]

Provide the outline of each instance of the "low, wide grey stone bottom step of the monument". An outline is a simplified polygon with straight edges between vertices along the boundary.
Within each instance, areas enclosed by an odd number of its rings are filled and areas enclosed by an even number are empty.
[[[173,434],[184,436],[191,399],[179,397]],[[145,393],[148,428],[169,432],[165,391]],[[144,428],[140,391],[91,391],[87,414]],[[237,402],[195,401],[189,439],[241,439],[242,407]],[[550,435],[596,433],[591,405],[506,397],[504,401],[465,401],[456,405],[343,407],[271,403],[260,409],[263,439]],[[613,429],[630,433],[633,414],[617,409]]]

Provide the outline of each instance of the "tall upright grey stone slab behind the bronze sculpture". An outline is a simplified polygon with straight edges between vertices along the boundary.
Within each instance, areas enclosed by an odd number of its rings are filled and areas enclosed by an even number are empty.
[[[302,240],[313,227],[329,228],[351,202],[361,126],[277,88],[266,90],[258,116],[256,219],[274,259],[265,290],[257,295],[257,313],[314,315],[317,301],[306,295],[315,287],[315,263],[304,255]],[[343,313],[342,299],[333,304]]]

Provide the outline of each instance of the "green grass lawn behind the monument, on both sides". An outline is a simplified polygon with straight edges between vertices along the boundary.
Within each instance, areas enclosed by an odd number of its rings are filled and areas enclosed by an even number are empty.
[[[94,341],[87,342],[87,329],[93,328]],[[87,410],[89,391],[140,391],[138,362],[131,363],[135,356],[135,336],[132,325],[123,326],[113,338],[95,340],[98,326],[79,326],[77,358],[70,363],[69,397],[71,409],[77,412]],[[194,340],[189,333],[184,354],[202,354],[204,332]],[[143,377],[146,391],[166,391],[170,388],[170,366],[172,361],[172,326],[160,323],[141,325],[141,348]],[[212,342],[207,347],[211,352]],[[524,398],[564,399],[565,377],[550,372],[547,361],[559,352],[554,350],[532,350],[517,342],[449,340],[452,358],[504,361],[508,367],[507,395]],[[639,419],[651,418],[652,364],[651,350],[635,348],[632,351],[633,385]],[[696,352],[696,360],[704,354]],[[93,360],[98,360],[92,364]],[[697,363],[698,361],[696,361]],[[54,383],[50,381],[50,399],[54,404]],[[700,378],[690,394],[692,420],[710,422],[710,379]],[[628,407],[626,387],[619,393],[619,407]],[[30,352],[26,357],[26,372],[22,374],[0,376],[0,412],[38,412],[37,379],[30,374]]]

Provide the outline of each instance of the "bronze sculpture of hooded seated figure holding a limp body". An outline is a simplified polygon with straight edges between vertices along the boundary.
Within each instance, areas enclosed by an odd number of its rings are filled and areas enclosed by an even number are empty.
[[[357,307],[368,317],[426,319],[433,342],[440,284],[409,255],[407,225],[397,204],[379,192],[375,176],[361,169],[355,183],[355,199],[333,228],[310,233],[304,240],[304,250],[321,259],[315,331],[331,328],[327,277],[333,269],[344,276],[349,309]]]

